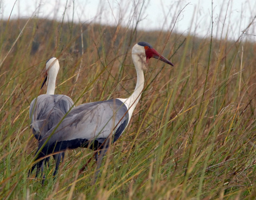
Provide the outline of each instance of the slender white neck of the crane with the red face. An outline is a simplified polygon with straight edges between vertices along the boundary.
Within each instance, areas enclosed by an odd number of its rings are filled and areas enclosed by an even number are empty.
[[[140,100],[141,93],[144,87],[144,74],[143,69],[145,69],[145,61],[141,56],[137,54],[132,54],[132,60],[134,61],[134,66],[137,72],[137,83],[134,92],[127,99],[119,99],[121,100],[128,109],[129,121],[131,120],[131,115]],[[129,123],[128,121],[128,123]]]

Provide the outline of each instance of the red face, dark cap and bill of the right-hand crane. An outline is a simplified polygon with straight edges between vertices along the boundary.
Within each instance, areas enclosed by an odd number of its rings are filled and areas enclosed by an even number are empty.
[[[148,63],[148,60],[151,57],[154,57],[156,59],[159,59],[171,66],[174,66],[168,59],[163,57],[161,54],[159,54],[149,43],[147,42],[139,42],[137,43],[139,46],[143,46],[145,49],[145,56],[146,56],[146,62]]]

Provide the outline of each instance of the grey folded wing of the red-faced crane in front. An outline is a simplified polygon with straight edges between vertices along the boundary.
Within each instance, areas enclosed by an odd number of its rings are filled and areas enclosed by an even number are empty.
[[[120,100],[85,103],[72,109],[58,126],[48,131],[48,145],[56,141],[76,139],[96,139],[100,143],[110,134],[114,141],[122,134],[128,124],[128,109]]]

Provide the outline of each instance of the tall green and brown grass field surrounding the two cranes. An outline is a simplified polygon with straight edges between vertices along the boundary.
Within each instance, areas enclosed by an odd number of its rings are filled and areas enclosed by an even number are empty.
[[[35,173],[27,177],[37,149],[29,104],[46,92],[40,90],[46,61],[59,59],[55,93],[76,105],[127,98],[136,85],[131,48],[139,41],[175,66],[149,61],[141,100],[96,184],[89,149],[67,151],[56,179],[51,158],[44,186]],[[242,37],[211,40],[37,18],[0,21],[1,199],[255,199],[255,48]]]

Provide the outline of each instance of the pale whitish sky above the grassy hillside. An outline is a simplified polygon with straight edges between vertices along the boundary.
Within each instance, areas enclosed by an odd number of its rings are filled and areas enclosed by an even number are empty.
[[[138,29],[170,31],[173,28],[201,37],[210,36],[212,17],[214,37],[221,37],[224,26],[222,37],[227,33],[230,39],[236,40],[256,16],[256,0],[213,0],[213,15],[211,6],[212,0],[17,0],[16,3],[0,0],[0,17],[35,15],[61,21],[65,12],[65,21],[74,17],[75,22],[112,26],[121,23],[125,27],[134,27],[140,19]],[[255,25],[256,20],[246,30],[244,39],[256,40]]]

